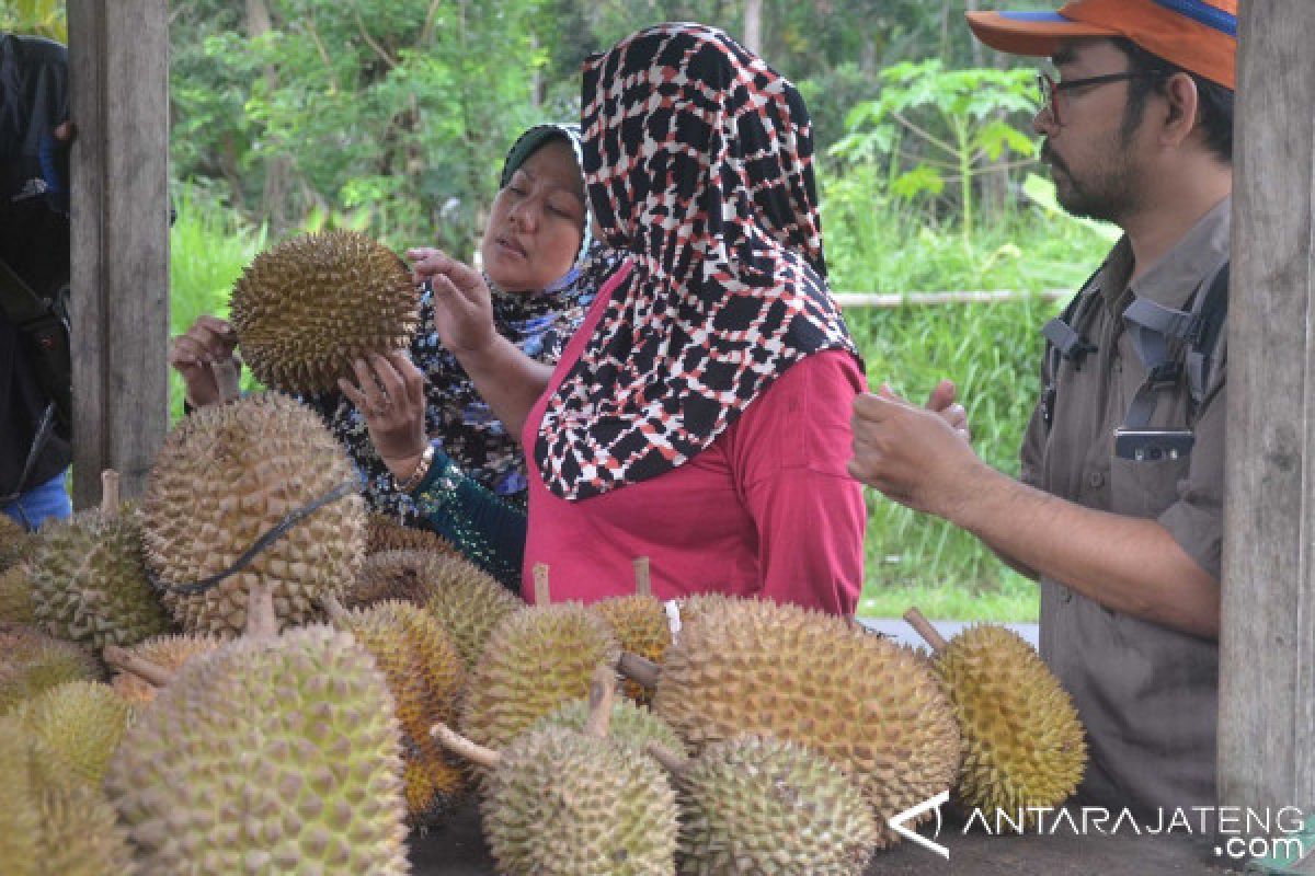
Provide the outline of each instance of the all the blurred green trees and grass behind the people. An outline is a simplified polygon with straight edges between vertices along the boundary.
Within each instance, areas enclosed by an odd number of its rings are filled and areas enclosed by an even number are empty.
[[[805,95],[832,289],[1076,289],[1111,232],[1055,206],[1035,164],[1032,66],[970,39],[963,13],[977,5],[172,0],[175,331],[222,313],[266,242],[302,230],[471,257],[515,135],[579,116],[586,54],[671,20],[726,29]],[[64,41],[63,0],[3,0],[0,29]],[[922,398],[955,380],[978,452],[1016,473],[1039,327],[1057,307],[1024,296],[846,317],[873,385]],[[876,494],[869,507],[863,613],[917,602],[936,617],[1035,619],[1035,587],[970,536]]]

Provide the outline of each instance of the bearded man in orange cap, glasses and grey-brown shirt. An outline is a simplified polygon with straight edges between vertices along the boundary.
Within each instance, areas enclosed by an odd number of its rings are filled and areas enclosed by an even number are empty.
[[[855,402],[849,470],[1040,582],[1041,655],[1088,729],[1082,802],[1215,805],[1236,3],[968,18],[1051,59],[1034,127],[1059,201],[1124,236],[1044,328],[1019,481],[948,408],[885,389]]]

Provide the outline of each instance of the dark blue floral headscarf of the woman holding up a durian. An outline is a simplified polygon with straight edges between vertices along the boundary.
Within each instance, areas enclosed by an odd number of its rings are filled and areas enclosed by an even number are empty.
[[[506,185],[515,169],[546,142],[564,137],[580,160],[580,129],[576,125],[537,125],[515,142],[502,165],[500,185]],[[588,205],[586,205],[588,206]],[[504,338],[527,356],[556,362],[562,349],[584,319],[598,288],[617,267],[619,256],[589,236],[590,214],[571,271],[539,293],[493,292],[493,323]],[[504,499],[523,503],[525,457],[519,445],[502,428],[488,405],[475,390],[456,357],[439,341],[434,328],[433,293],[425,289],[419,302],[419,331],[412,340],[410,356],[425,374],[425,429],[441,440],[443,450],[466,474]],[[418,520],[410,498],[398,493],[392,475],[375,452],[366,419],[341,393],[330,391],[305,399],[329,423],[366,478],[364,495],[371,510]]]

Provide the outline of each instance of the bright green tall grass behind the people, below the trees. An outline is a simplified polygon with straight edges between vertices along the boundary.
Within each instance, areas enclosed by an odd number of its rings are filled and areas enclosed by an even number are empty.
[[[938,229],[873,198],[861,173],[826,183],[823,202],[831,286],[847,292],[1076,289],[1109,240],[1088,225],[1036,208],[982,222],[972,235]],[[226,314],[229,290],[266,244],[263,229],[184,194],[172,246],[172,326]],[[1060,303],[1040,297],[992,305],[851,309],[849,328],[868,380],[923,399],[943,377],[969,411],[973,445],[990,465],[1018,473],[1018,447],[1038,395],[1040,326]],[[250,380],[250,378],[247,378]],[[174,377],[175,416],[181,383]],[[1036,587],[972,536],[868,491],[864,615],[918,604],[932,617],[1035,620]]]

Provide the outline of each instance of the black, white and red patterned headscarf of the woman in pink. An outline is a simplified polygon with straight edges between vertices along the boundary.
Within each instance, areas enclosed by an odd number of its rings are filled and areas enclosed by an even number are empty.
[[[810,353],[857,356],[794,85],[721,30],[665,24],[585,62],[583,106],[589,200],[633,269],[539,427],[565,499],[682,465]]]

